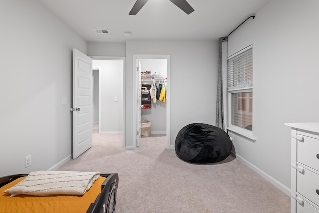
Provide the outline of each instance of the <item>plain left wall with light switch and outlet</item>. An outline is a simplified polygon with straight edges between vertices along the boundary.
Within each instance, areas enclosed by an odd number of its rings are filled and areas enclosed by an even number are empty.
[[[71,154],[72,49],[87,42],[36,0],[0,1],[0,19],[0,176],[47,170]]]

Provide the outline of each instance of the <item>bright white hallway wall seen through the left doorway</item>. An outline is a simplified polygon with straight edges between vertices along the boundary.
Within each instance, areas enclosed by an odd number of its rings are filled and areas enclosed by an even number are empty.
[[[103,133],[123,132],[123,62],[93,60],[93,69],[99,69],[99,125]]]

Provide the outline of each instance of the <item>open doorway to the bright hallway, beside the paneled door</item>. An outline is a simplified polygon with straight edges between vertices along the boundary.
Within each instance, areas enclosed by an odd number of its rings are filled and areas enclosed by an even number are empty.
[[[93,68],[92,132],[124,137],[124,60],[95,59]],[[93,137],[94,139],[94,137]],[[124,140],[123,140],[124,144]]]

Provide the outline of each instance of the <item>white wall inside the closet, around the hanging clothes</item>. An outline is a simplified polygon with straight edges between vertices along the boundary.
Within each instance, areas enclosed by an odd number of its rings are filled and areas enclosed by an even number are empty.
[[[166,59],[139,59],[141,62],[141,71],[151,71],[151,74],[167,73]],[[156,81],[158,86],[160,81]],[[141,83],[152,83],[152,81],[143,81]],[[151,121],[151,134],[166,134],[166,103],[157,100],[156,103],[152,101],[151,109],[141,109],[141,119]]]

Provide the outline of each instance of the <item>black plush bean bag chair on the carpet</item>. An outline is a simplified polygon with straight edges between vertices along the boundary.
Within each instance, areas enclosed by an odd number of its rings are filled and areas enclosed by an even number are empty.
[[[177,134],[176,155],[187,162],[206,164],[226,159],[232,141],[221,128],[202,123],[188,124]]]

